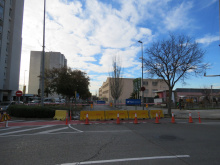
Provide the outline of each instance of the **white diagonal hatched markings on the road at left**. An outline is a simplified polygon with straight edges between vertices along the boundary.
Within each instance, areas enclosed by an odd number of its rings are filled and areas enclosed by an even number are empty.
[[[25,126],[0,128],[0,138],[9,136],[30,136],[43,134],[63,134],[63,133],[81,133],[69,125],[44,125],[44,126]]]

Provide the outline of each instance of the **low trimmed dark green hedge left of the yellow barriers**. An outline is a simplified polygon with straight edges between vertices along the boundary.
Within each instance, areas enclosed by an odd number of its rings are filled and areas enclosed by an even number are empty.
[[[41,106],[13,105],[8,108],[10,116],[24,118],[53,118],[55,109]]]

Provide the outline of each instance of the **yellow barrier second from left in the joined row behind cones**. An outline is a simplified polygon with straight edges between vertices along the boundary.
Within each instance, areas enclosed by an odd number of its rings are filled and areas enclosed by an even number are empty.
[[[119,114],[119,119],[128,119],[128,111],[125,110],[113,110],[113,111],[105,111],[105,119],[112,120],[117,119],[117,114]]]

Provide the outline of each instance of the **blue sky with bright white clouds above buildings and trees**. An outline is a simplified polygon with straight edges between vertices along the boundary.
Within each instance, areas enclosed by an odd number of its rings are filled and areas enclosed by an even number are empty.
[[[43,0],[24,5],[20,85],[24,78],[28,84],[30,51],[42,51],[43,45]],[[207,75],[220,74],[218,0],[47,0],[46,8],[46,51],[61,52],[69,67],[87,72],[93,94],[109,76],[115,56],[123,77],[141,77],[137,41],[145,49],[170,32],[193,37],[206,50]],[[219,80],[191,77],[175,88],[220,88]]]

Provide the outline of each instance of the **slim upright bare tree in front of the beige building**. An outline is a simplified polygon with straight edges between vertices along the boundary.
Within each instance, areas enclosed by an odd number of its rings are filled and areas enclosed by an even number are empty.
[[[114,104],[116,106],[116,101],[122,94],[123,90],[123,82],[122,82],[122,70],[119,60],[117,58],[113,58],[112,60],[112,69],[113,71],[110,73],[110,90],[112,98],[114,99]]]

